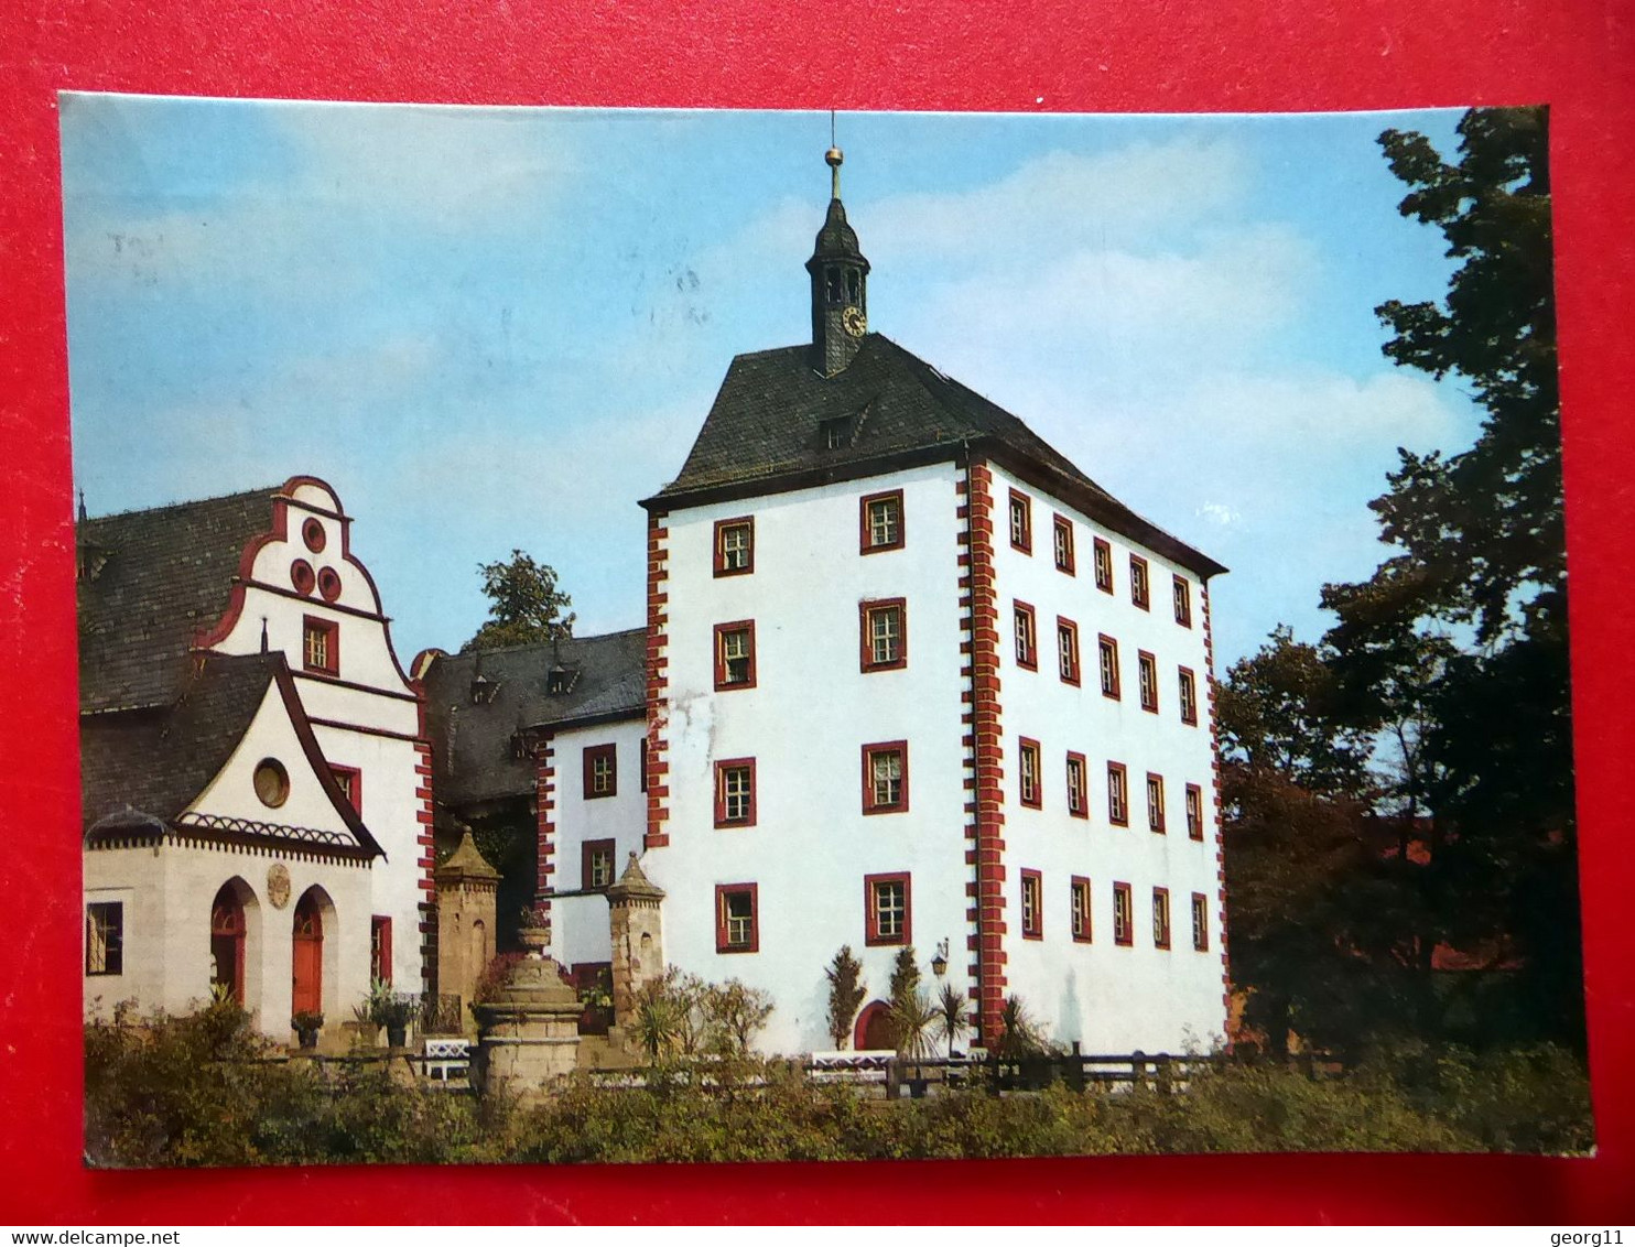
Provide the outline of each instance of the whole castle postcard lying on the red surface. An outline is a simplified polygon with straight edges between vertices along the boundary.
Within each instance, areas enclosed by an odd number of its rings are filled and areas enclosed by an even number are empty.
[[[1545,110],[62,147],[88,1164],[1592,1151]]]

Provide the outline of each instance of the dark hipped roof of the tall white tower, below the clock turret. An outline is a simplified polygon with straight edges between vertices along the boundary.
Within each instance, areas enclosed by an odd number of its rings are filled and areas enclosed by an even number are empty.
[[[826,446],[829,422],[845,422],[845,445]],[[739,355],[682,466],[644,505],[656,508],[744,497],[821,479],[889,471],[904,456],[952,458],[960,446],[1032,471],[1040,485],[1087,515],[1182,565],[1225,570],[1208,556],[1143,520],[1081,472],[1022,420],[880,333],[834,376],[811,366],[811,346]]]

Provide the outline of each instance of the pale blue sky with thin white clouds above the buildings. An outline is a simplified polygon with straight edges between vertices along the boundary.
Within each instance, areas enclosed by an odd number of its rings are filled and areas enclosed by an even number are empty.
[[[1458,113],[842,114],[870,327],[1230,565],[1216,660],[1316,637],[1378,562],[1396,446],[1468,446],[1380,355],[1440,235],[1375,137]],[[553,564],[644,619],[644,516],[737,351],[809,335],[818,113],[62,96],[75,480],[92,513],[327,479],[407,659]]]

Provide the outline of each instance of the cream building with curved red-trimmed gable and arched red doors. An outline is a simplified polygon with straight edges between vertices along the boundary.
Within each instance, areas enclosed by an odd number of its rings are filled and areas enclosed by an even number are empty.
[[[85,1007],[335,1036],[432,972],[430,749],[316,477],[77,528]]]

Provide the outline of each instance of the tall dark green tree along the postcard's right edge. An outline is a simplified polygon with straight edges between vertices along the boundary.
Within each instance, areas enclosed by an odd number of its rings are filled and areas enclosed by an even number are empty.
[[[1583,1043],[1576,824],[1568,701],[1566,562],[1542,108],[1473,110],[1458,159],[1421,134],[1380,137],[1409,186],[1401,212],[1439,229],[1458,261],[1442,302],[1386,302],[1385,353],[1458,376],[1483,410],[1455,454],[1400,451],[1372,505],[1390,557],[1328,585],[1326,644],[1352,726],[1382,734],[1429,971],[1437,941],[1521,956],[1506,1017]]]

